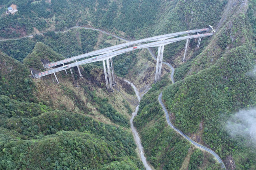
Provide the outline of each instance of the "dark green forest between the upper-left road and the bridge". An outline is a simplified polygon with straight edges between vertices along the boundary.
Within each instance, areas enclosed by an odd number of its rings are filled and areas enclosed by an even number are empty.
[[[77,29],[66,33],[54,33],[48,31],[34,38],[25,38],[14,41],[0,41],[1,50],[18,61],[32,52],[37,42],[42,42],[51,47],[64,57],[72,57],[82,53],[93,51],[97,43],[98,32],[92,30]],[[54,61],[54,59],[52,59]],[[55,60],[56,61],[56,60]]]

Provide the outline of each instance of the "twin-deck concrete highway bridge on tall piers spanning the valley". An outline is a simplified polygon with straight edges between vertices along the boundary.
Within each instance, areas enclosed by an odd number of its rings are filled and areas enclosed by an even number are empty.
[[[212,30],[212,32],[209,32],[211,30]],[[194,35],[190,35],[193,33],[194,33]],[[55,73],[60,72],[62,70],[66,71],[67,69],[70,69],[73,80],[76,84],[74,74],[71,69],[72,67],[77,67],[80,76],[82,76],[80,69],[78,67],[79,65],[102,61],[103,68],[104,68],[104,74],[105,74],[105,80],[106,80],[106,88],[107,88],[107,90],[112,91],[113,90],[112,85],[114,85],[116,83],[115,79],[114,79],[114,66],[113,66],[113,61],[112,61],[113,57],[123,54],[123,53],[127,53],[129,51],[134,51],[134,50],[144,49],[144,48],[149,48],[149,47],[158,47],[158,56],[157,56],[156,74],[155,74],[155,81],[158,81],[161,77],[164,45],[168,45],[170,43],[174,43],[177,41],[186,40],[185,53],[184,53],[184,58],[183,58],[183,61],[185,61],[185,57],[186,57],[190,39],[199,38],[198,45],[197,45],[197,47],[199,47],[202,37],[212,36],[213,34],[214,34],[214,30],[210,26],[209,28],[194,29],[194,30],[182,31],[182,32],[177,32],[177,33],[170,33],[170,34],[166,34],[166,35],[159,35],[159,36],[150,37],[150,38],[146,38],[146,39],[140,39],[140,40],[136,40],[136,41],[130,41],[128,43],[114,45],[112,47],[107,47],[107,48],[100,49],[97,51],[92,51],[92,52],[89,52],[86,54],[78,55],[78,56],[64,59],[61,61],[57,61],[54,63],[45,64],[44,68],[51,68],[51,67],[55,67],[55,68],[46,70],[44,72],[40,72],[38,74],[33,74],[33,72],[31,71],[31,74],[34,78],[40,78],[42,76],[54,74],[54,76],[58,82],[58,78],[56,77]],[[175,36],[180,36],[180,35],[186,35],[186,36],[173,38]],[[155,41],[155,42],[145,43],[145,42],[150,42],[150,41]],[[145,43],[145,44],[142,44],[142,43]],[[138,45],[129,47],[131,45],[136,45],[136,44],[138,44]],[[92,56],[94,56],[94,57],[92,57]],[[91,57],[91,58],[84,59],[86,57]],[[79,59],[82,59],[82,60],[78,61]],[[105,64],[105,61],[106,61],[106,64]],[[73,62],[73,63],[70,63],[70,62]],[[60,65],[62,65],[62,66],[60,66]],[[107,70],[106,70],[106,65],[107,65]]]

